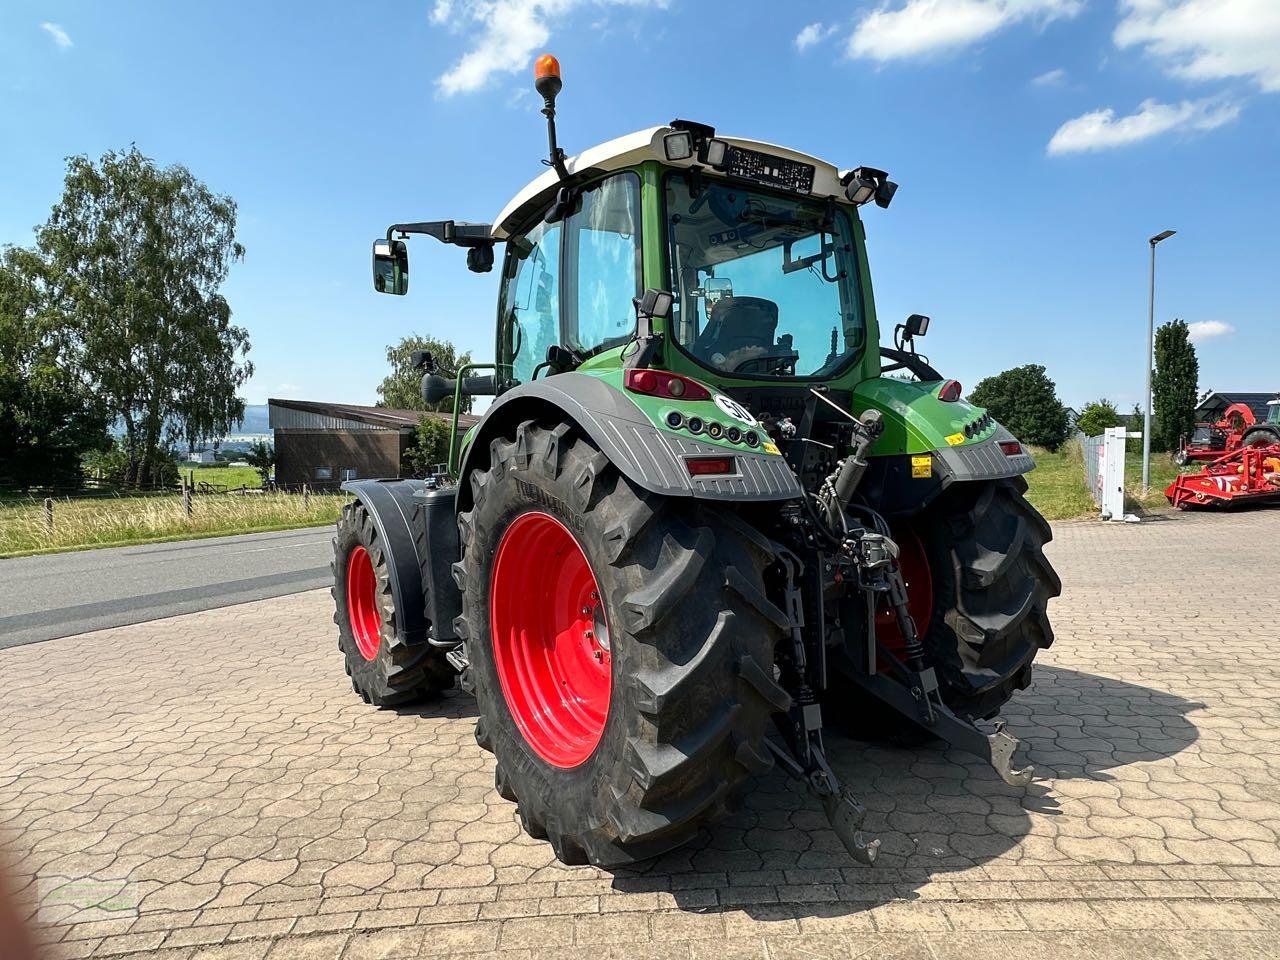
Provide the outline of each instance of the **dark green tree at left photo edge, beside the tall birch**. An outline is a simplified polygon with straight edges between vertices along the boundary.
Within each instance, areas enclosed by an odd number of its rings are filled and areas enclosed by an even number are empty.
[[[32,251],[0,253],[0,485],[74,486],[110,444],[105,407],[64,357]]]

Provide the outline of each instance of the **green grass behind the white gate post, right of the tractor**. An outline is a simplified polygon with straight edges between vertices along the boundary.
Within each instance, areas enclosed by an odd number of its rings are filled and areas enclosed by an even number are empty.
[[[1036,470],[1027,475],[1028,499],[1047,520],[1071,520],[1097,513],[1084,480],[1084,453],[1071,442],[1057,452],[1034,449]],[[1125,456],[1125,492],[1128,508],[1134,512],[1170,509],[1165,488],[1178,475],[1167,453],[1151,454],[1151,492],[1142,488],[1142,444],[1130,443]]]

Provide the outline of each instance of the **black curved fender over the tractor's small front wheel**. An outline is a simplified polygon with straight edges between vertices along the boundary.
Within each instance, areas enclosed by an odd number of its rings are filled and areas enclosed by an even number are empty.
[[[396,603],[396,634],[406,644],[425,644],[430,623],[422,591],[422,564],[413,538],[413,494],[425,480],[348,480],[342,489],[369,511],[387,550]]]

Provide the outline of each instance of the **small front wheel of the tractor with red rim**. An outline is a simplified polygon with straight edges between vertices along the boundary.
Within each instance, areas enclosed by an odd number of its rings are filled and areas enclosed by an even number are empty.
[[[342,508],[333,538],[333,621],[352,689],[375,707],[430,699],[453,686],[457,673],[444,652],[408,645],[396,635],[387,553],[362,503]]]

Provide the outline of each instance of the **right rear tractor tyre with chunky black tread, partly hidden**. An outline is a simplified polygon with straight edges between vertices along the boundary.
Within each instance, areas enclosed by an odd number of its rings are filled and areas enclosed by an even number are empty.
[[[1000,713],[1053,643],[1048,602],[1062,593],[1044,557],[1053,534],[1025,494],[1021,476],[959,484],[914,525],[933,581],[924,649],[943,701],[970,719]]]

